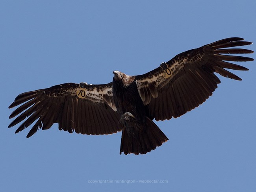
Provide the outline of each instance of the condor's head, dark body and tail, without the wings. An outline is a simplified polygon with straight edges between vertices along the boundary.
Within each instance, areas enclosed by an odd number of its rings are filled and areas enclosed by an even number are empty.
[[[120,154],[145,154],[154,150],[168,138],[148,117],[135,77],[119,71],[113,73],[113,100],[123,127]]]

